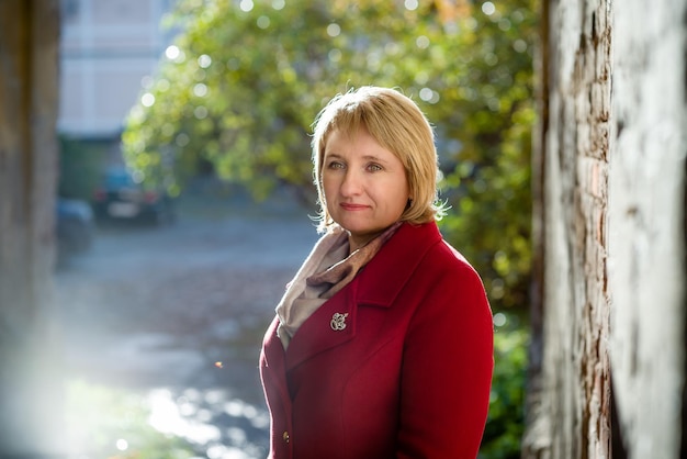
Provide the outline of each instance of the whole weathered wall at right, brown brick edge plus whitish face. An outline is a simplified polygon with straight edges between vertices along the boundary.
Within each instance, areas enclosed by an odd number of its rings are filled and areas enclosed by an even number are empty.
[[[679,457],[684,3],[545,2],[543,357],[523,457],[611,457],[611,360],[628,456]]]

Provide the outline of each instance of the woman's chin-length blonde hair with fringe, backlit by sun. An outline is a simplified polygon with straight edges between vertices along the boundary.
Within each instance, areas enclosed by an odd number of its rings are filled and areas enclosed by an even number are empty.
[[[401,221],[414,224],[440,220],[446,211],[437,201],[438,159],[431,125],[417,104],[397,90],[364,86],[335,96],[313,123],[313,175],[317,188],[318,231],[335,225],[327,211],[322,168],[327,139],[334,131],[354,135],[361,127],[403,164],[410,200]]]

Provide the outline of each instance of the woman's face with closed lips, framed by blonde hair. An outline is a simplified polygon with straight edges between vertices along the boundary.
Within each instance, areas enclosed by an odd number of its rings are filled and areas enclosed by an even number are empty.
[[[409,198],[405,168],[368,130],[329,134],[322,167],[327,211],[350,233],[350,251],[398,221]]]

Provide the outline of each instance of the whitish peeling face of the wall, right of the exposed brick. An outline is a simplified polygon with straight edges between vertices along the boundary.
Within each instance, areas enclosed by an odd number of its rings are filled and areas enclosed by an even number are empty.
[[[687,2],[616,3],[612,42],[613,393],[629,457],[678,458],[685,423]]]

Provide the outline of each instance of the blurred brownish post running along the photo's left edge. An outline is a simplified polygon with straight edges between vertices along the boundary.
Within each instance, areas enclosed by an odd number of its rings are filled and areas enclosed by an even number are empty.
[[[59,456],[50,310],[57,0],[0,2],[0,456]]]

